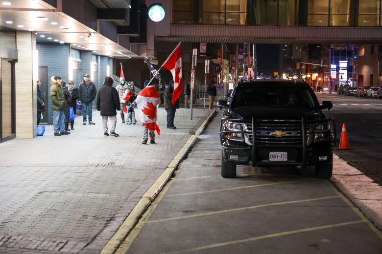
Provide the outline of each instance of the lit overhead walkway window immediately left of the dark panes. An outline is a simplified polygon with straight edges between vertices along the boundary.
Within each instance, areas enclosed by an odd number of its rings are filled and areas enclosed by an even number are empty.
[[[227,0],[226,23],[234,25],[246,24],[247,0]]]

